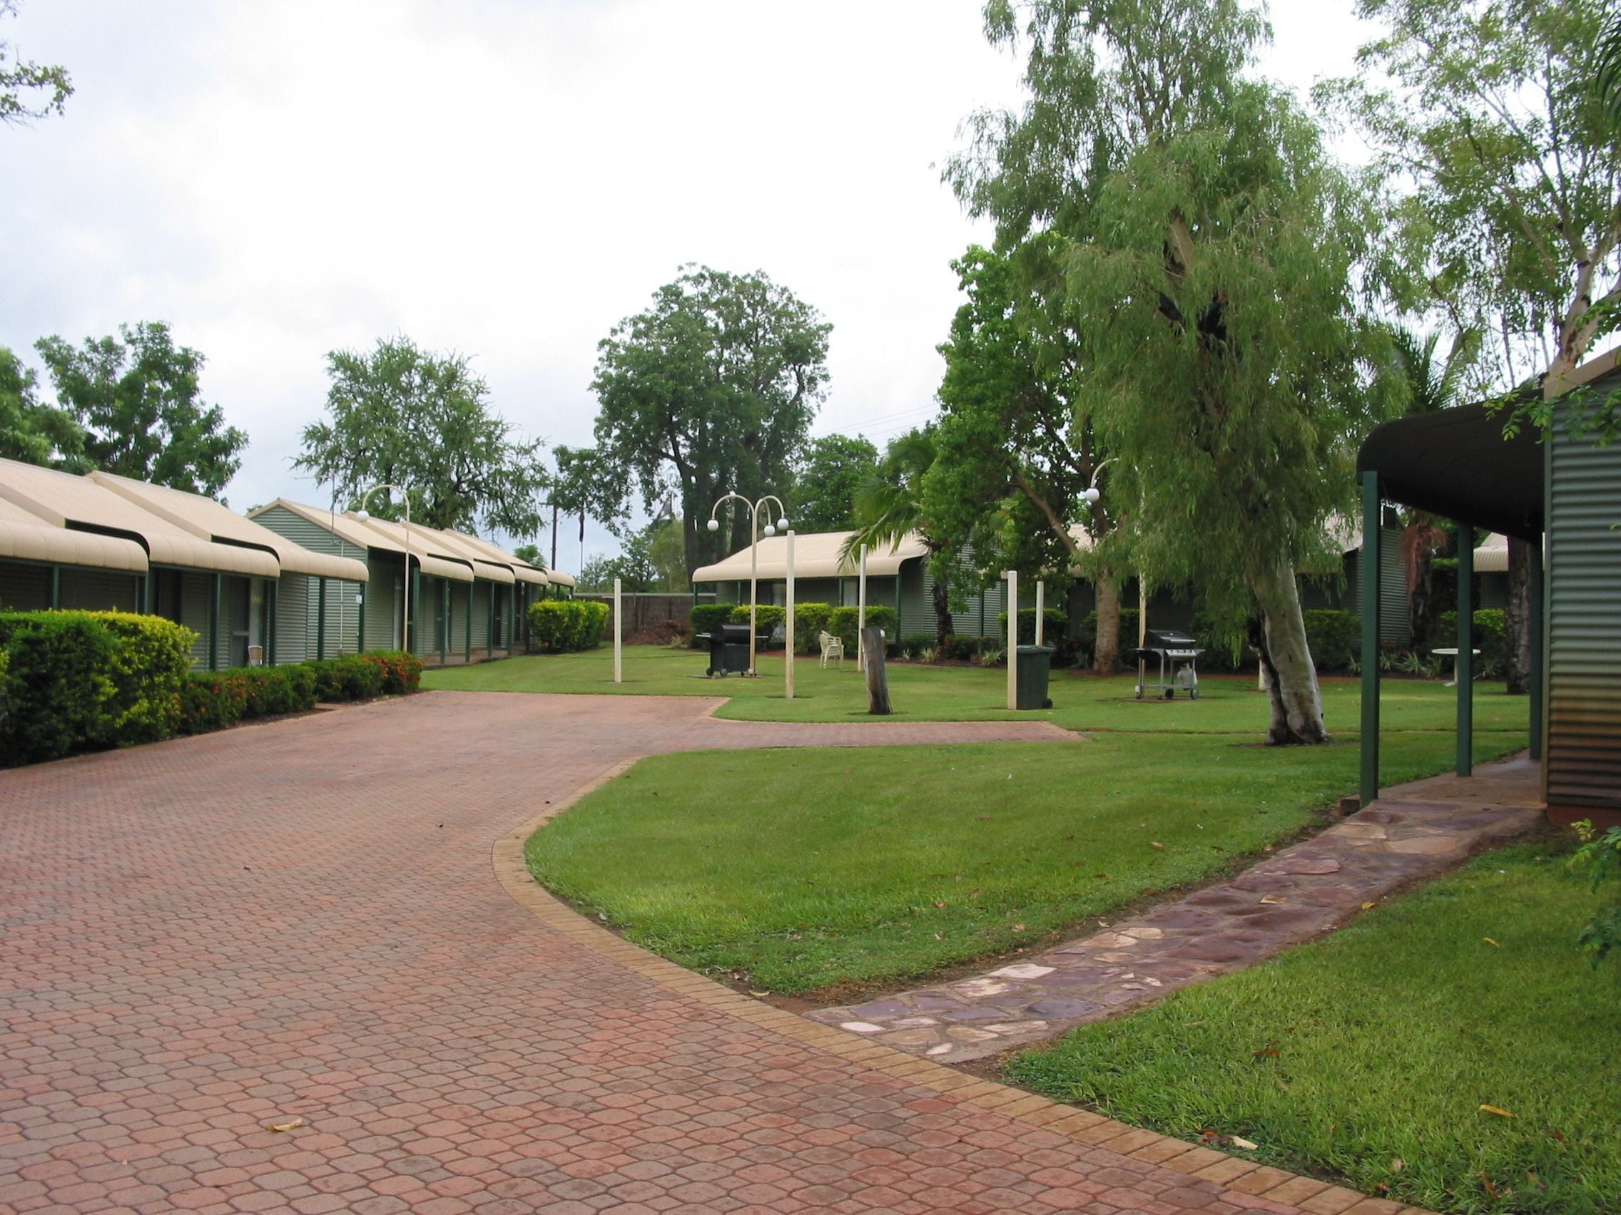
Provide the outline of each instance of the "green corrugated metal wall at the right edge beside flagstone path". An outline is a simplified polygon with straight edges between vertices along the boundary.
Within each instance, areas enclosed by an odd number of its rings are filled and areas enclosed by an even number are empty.
[[[1548,805],[1621,810],[1621,444],[1571,439],[1568,421],[1545,444]]]

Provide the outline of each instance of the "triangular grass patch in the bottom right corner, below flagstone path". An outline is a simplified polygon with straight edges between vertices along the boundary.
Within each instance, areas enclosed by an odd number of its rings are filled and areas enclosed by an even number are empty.
[[[1574,943],[1595,901],[1558,852],[1504,849],[1008,1074],[1431,1210],[1618,1212],[1621,967]]]

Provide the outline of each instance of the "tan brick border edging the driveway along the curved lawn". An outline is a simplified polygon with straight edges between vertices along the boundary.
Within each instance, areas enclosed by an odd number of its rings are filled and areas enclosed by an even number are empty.
[[[1326,1181],[1263,1166],[1224,1152],[1188,1144],[1182,1139],[1172,1139],[1157,1131],[1144,1131],[1127,1123],[1117,1123],[1112,1118],[1104,1118],[1102,1115],[1065,1105],[1024,1089],[1015,1089],[1000,1081],[981,1079],[956,1068],[948,1068],[943,1063],[919,1059],[892,1047],[858,1038],[832,1025],[806,1021],[794,1013],[739,995],[729,987],[648,953],[642,946],[632,944],[622,936],[616,936],[606,928],[592,923],[535,881],[528,872],[528,859],[524,846],[548,820],[562,813],[635,763],[637,760],[624,760],[609,765],[566,797],[558,799],[540,813],[501,836],[491,847],[490,860],[496,881],[501,883],[515,904],[548,928],[569,936],[592,953],[627,970],[652,978],[660,987],[710,1004],[738,1021],[794,1038],[807,1047],[836,1055],[841,1059],[888,1076],[890,1079],[934,1089],[948,1100],[963,1102],[1029,1126],[1052,1131],[1086,1147],[1104,1147],[1117,1155],[1159,1165],[1175,1173],[1225,1186],[1269,1202],[1292,1205],[1310,1202],[1310,1210],[1316,1212],[1316,1215],[1431,1215],[1431,1212],[1422,1207],[1407,1207],[1388,1199],[1375,1199]]]

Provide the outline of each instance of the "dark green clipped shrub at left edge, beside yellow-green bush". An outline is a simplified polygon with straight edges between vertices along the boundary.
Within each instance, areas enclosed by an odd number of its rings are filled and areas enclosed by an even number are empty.
[[[94,612],[3,612],[0,763],[55,760],[104,745],[118,638]]]

